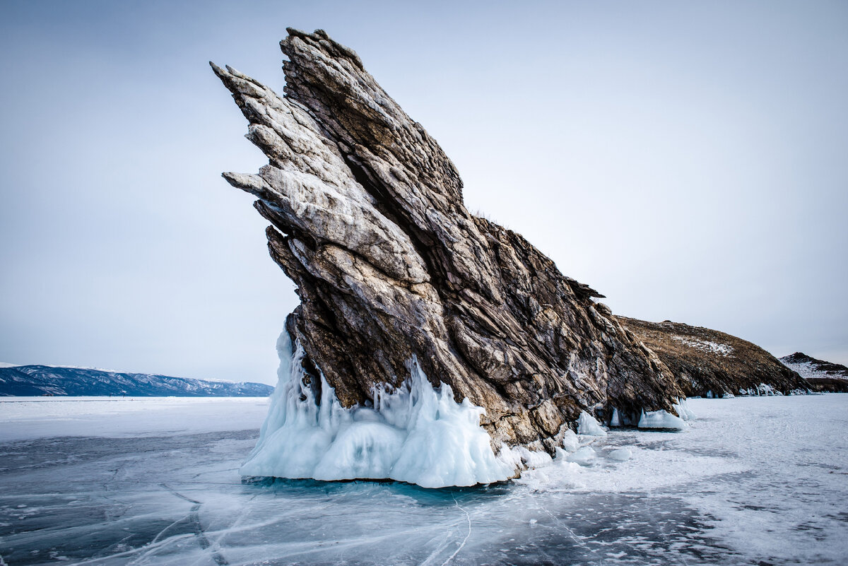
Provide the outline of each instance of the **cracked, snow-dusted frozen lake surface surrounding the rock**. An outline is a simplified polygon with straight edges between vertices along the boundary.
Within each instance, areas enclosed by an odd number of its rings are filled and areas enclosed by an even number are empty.
[[[848,563],[848,395],[689,408],[583,438],[587,465],[427,490],[243,481],[266,399],[5,398],[0,565]]]

